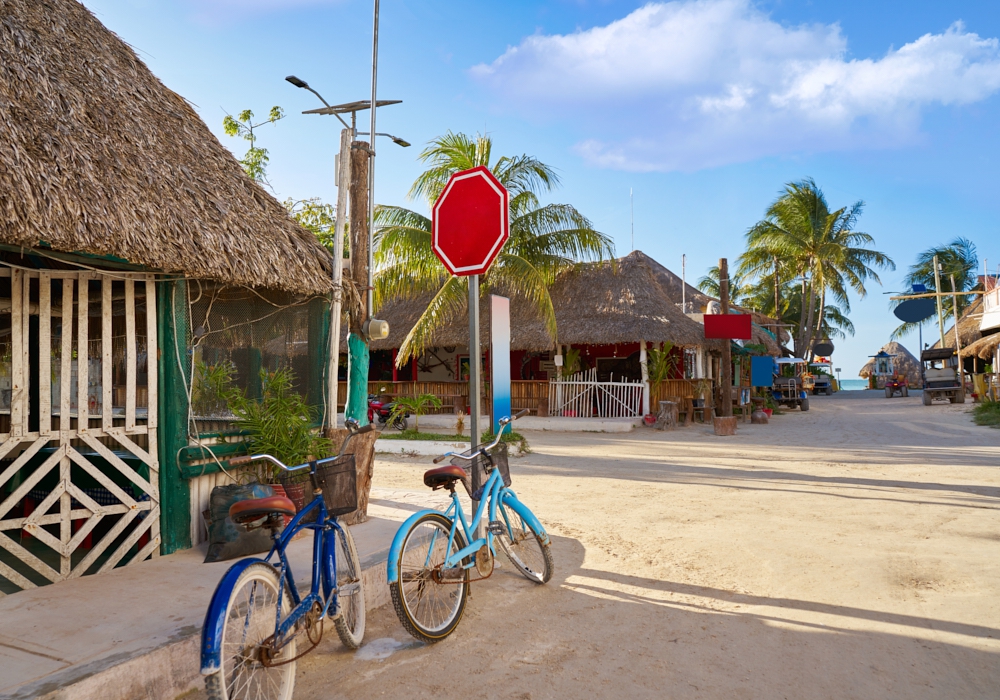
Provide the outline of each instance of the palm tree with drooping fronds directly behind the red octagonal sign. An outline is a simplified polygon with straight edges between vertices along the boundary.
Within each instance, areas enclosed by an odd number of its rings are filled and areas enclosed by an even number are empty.
[[[492,159],[489,136],[475,138],[448,132],[420,154],[429,164],[413,183],[409,196],[428,206],[455,172],[486,166],[510,192],[510,239],[481,279],[486,291],[519,296],[534,305],[549,335],[557,337],[549,287],[560,272],[577,262],[614,257],[611,239],[594,230],[583,214],[568,204],[542,206],[539,194],[559,184],[555,171],[527,155]],[[407,334],[397,355],[402,366],[423,354],[434,331],[464,314],[468,280],[448,273],[431,249],[431,220],[403,207],[382,206],[375,214],[375,294],[386,299],[434,296]]]

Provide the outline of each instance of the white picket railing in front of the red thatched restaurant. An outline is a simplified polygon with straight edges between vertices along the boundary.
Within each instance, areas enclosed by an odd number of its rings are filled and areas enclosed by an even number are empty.
[[[549,415],[634,418],[642,415],[642,382],[597,381],[597,369],[549,382]]]

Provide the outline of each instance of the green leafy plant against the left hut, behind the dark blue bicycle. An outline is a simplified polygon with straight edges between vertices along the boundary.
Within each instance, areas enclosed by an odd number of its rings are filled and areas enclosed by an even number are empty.
[[[238,389],[226,394],[236,425],[247,432],[252,454],[269,454],[288,465],[325,456],[332,445],[313,428],[315,410],[293,389],[295,374],[283,368],[261,370],[261,398],[253,399]],[[274,474],[271,475],[272,477]]]

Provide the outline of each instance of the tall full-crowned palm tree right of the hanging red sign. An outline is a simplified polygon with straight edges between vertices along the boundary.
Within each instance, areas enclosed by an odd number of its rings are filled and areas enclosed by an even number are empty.
[[[822,190],[811,179],[791,182],[768,207],[765,218],[746,234],[747,250],[737,271],[747,279],[772,276],[796,280],[801,298],[795,354],[805,357],[827,321],[827,296],[844,315],[850,312],[849,290],[864,298],[865,282],[881,284],[875,268],[894,270],[895,263],[868,246],[875,239],[855,231],[864,202],[830,211]]]

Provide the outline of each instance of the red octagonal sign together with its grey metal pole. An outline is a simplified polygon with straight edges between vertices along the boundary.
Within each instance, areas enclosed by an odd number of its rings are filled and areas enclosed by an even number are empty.
[[[489,168],[479,166],[449,178],[432,211],[432,247],[453,275],[469,278],[469,413],[472,449],[479,447],[479,276],[485,274],[509,237],[510,195]],[[481,484],[472,470],[473,492]],[[476,504],[473,504],[475,510]]]

